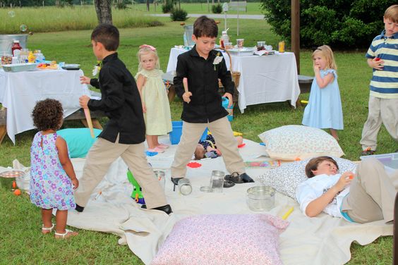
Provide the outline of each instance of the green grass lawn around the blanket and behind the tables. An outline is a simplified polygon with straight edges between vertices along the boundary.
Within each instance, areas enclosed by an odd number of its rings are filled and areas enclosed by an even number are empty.
[[[191,12],[191,11],[188,11]],[[196,11],[195,11],[196,13]],[[163,70],[167,67],[169,51],[176,44],[183,44],[183,28],[169,18],[157,18],[164,23],[161,27],[123,28],[121,32],[121,59],[133,74],[137,71],[136,53],[141,44],[157,47]],[[189,19],[188,23],[193,23]],[[263,20],[240,20],[240,32],[248,46],[258,40],[276,45],[279,37],[272,34],[270,27]],[[236,25],[231,20],[229,25]],[[224,25],[220,25],[223,28]],[[96,63],[90,47],[90,30],[35,33],[28,38],[30,49],[41,49],[47,59],[80,63],[86,75],[90,75]],[[229,31],[231,39],[236,39],[236,28]],[[276,47],[276,46],[275,46]],[[346,159],[358,160],[361,152],[361,130],[368,113],[368,83],[371,70],[366,65],[364,51],[336,52],[339,74],[339,87],[342,95],[344,112],[344,130],[339,132],[340,145]],[[313,75],[310,51],[301,52],[301,73]],[[308,94],[301,95],[308,99]],[[173,120],[179,120],[181,101],[171,104]],[[260,142],[260,132],[282,125],[301,124],[303,107],[291,109],[286,102],[248,106],[245,113],[234,111],[234,130],[243,132],[247,139]],[[80,127],[77,121],[66,122],[66,128]],[[0,166],[11,166],[13,159],[23,164],[30,164],[29,148],[35,130],[16,135],[16,145],[6,137],[0,147]],[[397,142],[392,140],[385,128],[378,136],[378,153],[394,152]],[[51,237],[40,235],[40,209],[30,204],[28,196],[14,196],[11,192],[0,189],[0,264],[141,264],[141,261],[127,246],[117,245],[114,235],[80,230],[80,235],[73,240],[55,241]],[[61,251],[60,251],[61,249]],[[352,259],[349,264],[391,264],[392,237],[376,240],[361,247],[353,244]]]

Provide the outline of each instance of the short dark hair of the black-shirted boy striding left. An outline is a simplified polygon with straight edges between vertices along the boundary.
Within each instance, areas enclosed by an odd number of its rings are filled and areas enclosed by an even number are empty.
[[[116,51],[119,47],[119,30],[110,24],[97,25],[92,30],[91,40],[100,42],[107,51]]]

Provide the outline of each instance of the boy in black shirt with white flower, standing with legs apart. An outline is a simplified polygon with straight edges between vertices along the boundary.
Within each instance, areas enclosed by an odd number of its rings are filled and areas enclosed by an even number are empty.
[[[223,97],[229,99],[231,106],[234,82],[221,53],[213,50],[217,34],[215,20],[201,16],[193,24],[192,39],[195,47],[178,57],[174,89],[184,102],[182,136],[171,166],[171,181],[174,184],[185,177],[186,164],[206,127],[215,137],[225,166],[231,173],[225,179],[234,183],[253,182],[245,173],[243,159],[227,119],[228,112],[222,107],[222,99],[218,94],[219,78],[225,88]],[[187,81],[188,85],[184,89],[183,83]]]

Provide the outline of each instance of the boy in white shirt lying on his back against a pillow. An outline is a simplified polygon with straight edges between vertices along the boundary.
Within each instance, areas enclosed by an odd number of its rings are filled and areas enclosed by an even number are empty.
[[[387,175],[377,159],[361,161],[356,174],[339,173],[337,162],[329,156],[310,159],[306,165],[308,180],[299,184],[296,199],[306,216],[322,211],[355,223],[394,219],[394,199],[398,170]]]

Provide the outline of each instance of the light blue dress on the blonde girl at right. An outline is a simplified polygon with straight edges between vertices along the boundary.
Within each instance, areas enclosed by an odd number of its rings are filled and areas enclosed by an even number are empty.
[[[326,87],[320,88],[316,80],[313,80],[302,123],[313,128],[343,130],[342,100],[337,84],[337,73],[334,69],[320,70],[322,78],[328,73],[333,73],[334,80]]]

